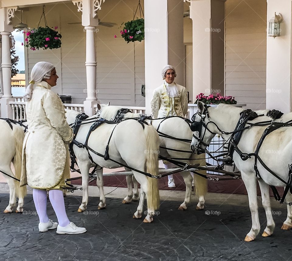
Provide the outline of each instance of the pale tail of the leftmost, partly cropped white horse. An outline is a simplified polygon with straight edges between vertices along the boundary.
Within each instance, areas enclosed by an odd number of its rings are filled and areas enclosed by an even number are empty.
[[[20,179],[21,176],[21,160],[22,160],[22,147],[24,139],[24,131],[21,127],[13,125],[12,134],[14,136],[15,153],[13,157],[13,166],[15,170],[15,177]],[[26,196],[26,186],[19,187],[19,181],[15,181],[15,191],[18,198]]]

